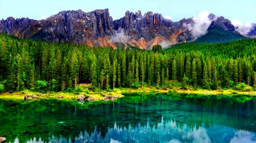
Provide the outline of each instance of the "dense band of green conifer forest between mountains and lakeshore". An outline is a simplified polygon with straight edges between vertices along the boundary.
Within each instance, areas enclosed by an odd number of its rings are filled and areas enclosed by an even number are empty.
[[[156,86],[170,81],[184,89],[256,88],[255,39],[224,44],[181,44],[162,50],[89,47],[19,39],[0,34],[0,91],[69,91]],[[2,86],[2,88],[1,88]]]

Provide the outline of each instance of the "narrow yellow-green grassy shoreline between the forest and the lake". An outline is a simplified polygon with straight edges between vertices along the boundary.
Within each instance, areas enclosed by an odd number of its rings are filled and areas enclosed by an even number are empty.
[[[24,90],[23,92],[14,92],[14,93],[1,93],[0,99],[10,99],[10,100],[16,100],[16,101],[22,101],[24,100],[25,95],[35,95],[36,98],[34,99],[66,99],[66,100],[77,100],[77,97],[81,94],[84,94],[88,97],[93,97],[94,101],[103,101],[104,96],[108,94],[109,96],[115,96],[117,98],[124,97],[123,94],[129,94],[129,93],[139,93],[139,94],[152,94],[152,93],[176,93],[176,94],[187,94],[188,96],[191,94],[193,96],[237,96],[237,95],[245,95],[245,96],[251,96],[256,97],[256,91],[239,91],[239,90],[233,90],[233,89],[227,89],[227,90],[205,90],[205,89],[188,89],[183,90],[180,88],[173,88],[173,89],[156,89],[156,88],[138,88],[138,89],[130,89],[130,88],[115,88],[111,92],[80,92],[79,94],[75,93],[63,93],[63,92],[46,92],[46,93],[39,93],[39,92],[31,92],[30,90]],[[40,96],[38,96],[40,94]],[[57,98],[57,96],[62,96],[63,98]]]

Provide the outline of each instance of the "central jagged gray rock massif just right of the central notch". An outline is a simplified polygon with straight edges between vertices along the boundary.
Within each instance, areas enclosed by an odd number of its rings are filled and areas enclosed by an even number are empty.
[[[178,34],[178,41],[186,40],[190,35],[183,24],[193,24],[192,19],[182,19],[177,22],[164,19],[161,14],[153,14],[152,11],[142,16],[141,11],[127,11],[125,17],[114,20],[114,30],[123,29],[123,31],[133,40],[138,41],[143,38],[146,42],[150,42],[158,36],[162,36],[164,40],[170,40],[171,36]],[[181,31],[181,33],[180,33]],[[176,38],[174,37],[174,38]]]

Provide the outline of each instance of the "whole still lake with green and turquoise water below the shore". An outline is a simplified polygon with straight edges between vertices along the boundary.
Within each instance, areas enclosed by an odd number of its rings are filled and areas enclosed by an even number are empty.
[[[255,111],[249,97],[0,100],[0,136],[7,142],[256,142]]]

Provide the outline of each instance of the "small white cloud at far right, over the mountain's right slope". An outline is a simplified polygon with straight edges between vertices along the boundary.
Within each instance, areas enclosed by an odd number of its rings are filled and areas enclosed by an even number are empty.
[[[252,25],[249,21],[247,21],[245,25],[243,25],[242,21],[233,19],[232,24],[234,25],[234,27],[237,27],[236,31],[242,34],[243,36],[247,36],[247,34],[250,32],[252,28]]]

